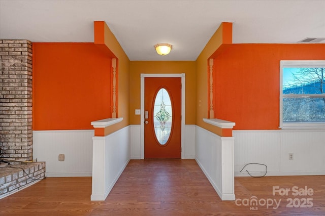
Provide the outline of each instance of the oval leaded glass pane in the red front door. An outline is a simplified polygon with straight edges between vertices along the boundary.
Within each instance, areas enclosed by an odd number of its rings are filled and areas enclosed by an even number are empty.
[[[166,89],[158,91],[154,100],[153,126],[156,138],[160,145],[165,145],[172,129],[172,102]]]

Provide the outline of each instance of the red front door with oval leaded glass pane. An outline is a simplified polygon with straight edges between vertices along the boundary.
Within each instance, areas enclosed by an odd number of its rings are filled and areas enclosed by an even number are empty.
[[[145,158],[181,158],[181,78],[145,78]]]

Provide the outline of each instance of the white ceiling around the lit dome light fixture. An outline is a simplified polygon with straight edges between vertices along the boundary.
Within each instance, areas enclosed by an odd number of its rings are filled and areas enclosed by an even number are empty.
[[[234,44],[325,37],[325,0],[0,0],[2,39],[93,42],[96,20],[132,61],[193,61],[221,22],[233,22]],[[160,42],[169,55],[155,53]]]

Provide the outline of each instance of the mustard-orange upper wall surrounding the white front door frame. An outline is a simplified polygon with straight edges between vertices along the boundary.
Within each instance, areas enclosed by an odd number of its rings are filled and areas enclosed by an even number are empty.
[[[195,81],[194,61],[131,61],[130,63],[130,124],[140,124],[140,74],[141,73],[185,73],[185,124],[195,124]]]

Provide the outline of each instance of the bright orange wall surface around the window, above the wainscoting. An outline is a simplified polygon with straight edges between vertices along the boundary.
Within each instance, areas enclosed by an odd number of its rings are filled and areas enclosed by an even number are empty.
[[[215,118],[278,129],[280,60],[323,60],[325,44],[229,45],[214,60]]]

